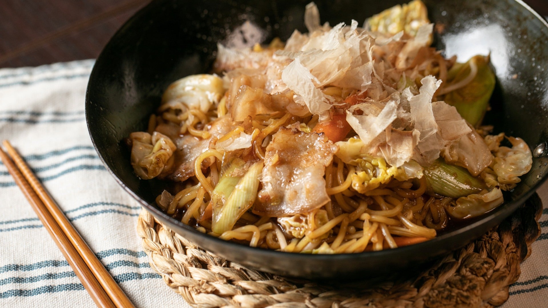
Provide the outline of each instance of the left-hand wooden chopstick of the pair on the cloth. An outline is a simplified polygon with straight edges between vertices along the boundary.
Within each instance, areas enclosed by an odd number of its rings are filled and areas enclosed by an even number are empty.
[[[109,295],[105,293],[105,290],[101,287],[101,284],[95,279],[93,273],[85,265],[84,260],[78,254],[76,249],[72,246],[65,233],[61,231],[59,225],[53,219],[53,216],[44,207],[44,204],[40,201],[36,193],[32,190],[31,186],[25,180],[23,175],[19,172],[12,159],[0,148],[0,158],[4,162],[4,165],[8,168],[8,172],[12,174],[16,184],[20,187],[21,191],[31,204],[32,209],[35,210],[38,218],[42,221],[45,229],[48,230],[49,235],[57,244],[57,247],[61,250],[61,253],[65,256],[68,264],[72,267],[76,276],[84,285],[84,288],[88,290],[90,296],[98,307],[116,307]]]

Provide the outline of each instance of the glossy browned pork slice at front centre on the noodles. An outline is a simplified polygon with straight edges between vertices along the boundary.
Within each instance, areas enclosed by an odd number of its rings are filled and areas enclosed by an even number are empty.
[[[323,133],[280,128],[266,147],[262,190],[253,212],[281,217],[308,213],[329,202],[323,176],[336,150]]]

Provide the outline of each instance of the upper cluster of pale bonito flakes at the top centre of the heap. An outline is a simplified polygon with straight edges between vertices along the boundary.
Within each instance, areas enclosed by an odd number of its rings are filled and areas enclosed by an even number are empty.
[[[358,29],[355,20],[350,26],[344,23],[333,28],[320,26],[313,3],[306,7],[305,24],[310,33],[295,31],[288,39],[286,49],[275,54],[293,59],[283,70],[282,81],[302,98],[313,115],[321,115],[334,103],[333,98],[321,93],[321,88],[335,85],[367,89],[373,73],[373,38]]]

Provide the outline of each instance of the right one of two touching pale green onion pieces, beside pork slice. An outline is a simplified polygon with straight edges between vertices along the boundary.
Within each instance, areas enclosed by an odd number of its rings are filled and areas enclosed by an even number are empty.
[[[211,226],[213,232],[222,234],[225,231],[232,230],[236,221],[253,206],[255,198],[257,197],[259,175],[262,172],[263,166],[263,162],[254,163],[249,167],[247,173],[238,181],[238,184],[233,191],[231,191],[224,206],[218,210],[217,215],[213,215]]]

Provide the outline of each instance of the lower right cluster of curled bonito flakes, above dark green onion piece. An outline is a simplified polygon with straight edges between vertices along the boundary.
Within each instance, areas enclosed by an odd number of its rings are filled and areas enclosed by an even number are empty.
[[[366,101],[346,111],[346,121],[363,141],[364,151],[396,167],[410,159],[427,166],[442,147],[470,132],[454,107],[444,102],[432,105],[441,81],[426,76],[421,83],[417,95],[407,88],[401,95],[394,92],[383,101]]]

